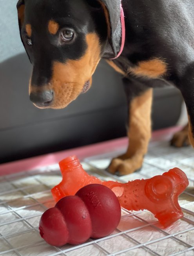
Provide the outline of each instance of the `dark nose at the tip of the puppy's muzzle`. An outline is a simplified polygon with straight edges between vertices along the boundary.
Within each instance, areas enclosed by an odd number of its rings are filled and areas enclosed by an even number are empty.
[[[53,102],[53,91],[31,93],[30,100],[38,107],[48,107]]]

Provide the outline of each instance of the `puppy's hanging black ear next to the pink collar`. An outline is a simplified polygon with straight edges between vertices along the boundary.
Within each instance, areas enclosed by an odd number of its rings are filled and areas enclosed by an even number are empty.
[[[120,50],[121,41],[121,1],[99,0],[103,7],[108,26],[109,43],[105,47],[104,58],[114,58]]]

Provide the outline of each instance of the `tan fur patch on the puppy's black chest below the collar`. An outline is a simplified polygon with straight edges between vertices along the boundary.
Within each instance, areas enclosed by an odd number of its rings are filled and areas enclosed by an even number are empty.
[[[135,76],[158,78],[167,72],[167,64],[157,58],[148,61],[140,61],[136,67],[129,68],[128,72]]]

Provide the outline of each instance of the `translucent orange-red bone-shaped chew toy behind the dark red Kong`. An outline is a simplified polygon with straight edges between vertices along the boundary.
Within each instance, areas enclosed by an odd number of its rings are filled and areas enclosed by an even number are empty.
[[[149,210],[164,227],[183,217],[178,196],[189,185],[189,181],[186,174],[178,168],[150,179],[122,184],[113,181],[101,182],[98,178],[90,176],[83,170],[76,156],[60,161],[59,165],[63,180],[51,189],[56,201],[67,195],[74,195],[87,184],[98,183],[114,191],[121,207],[135,211]]]

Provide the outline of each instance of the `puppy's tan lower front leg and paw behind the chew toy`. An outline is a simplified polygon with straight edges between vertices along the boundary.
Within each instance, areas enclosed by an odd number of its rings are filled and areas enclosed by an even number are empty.
[[[132,100],[129,111],[129,146],[124,155],[111,161],[110,173],[118,171],[126,175],[141,168],[151,137],[151,106],[152,89]]]

